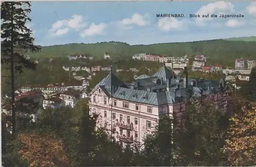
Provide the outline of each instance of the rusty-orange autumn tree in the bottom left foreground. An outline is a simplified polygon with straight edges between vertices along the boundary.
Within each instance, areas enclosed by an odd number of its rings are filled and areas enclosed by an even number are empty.
[[[69,159],[61,140],[54,134],[24,132],[18,134],[18,154],[28,160],[29,166],[68,166]]]

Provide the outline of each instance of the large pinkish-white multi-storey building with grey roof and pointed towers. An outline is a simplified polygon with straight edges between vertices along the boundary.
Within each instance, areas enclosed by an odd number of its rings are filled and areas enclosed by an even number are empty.
[[[145,135],[154,130],[159,116],[174,118],[186,110],[188,89],[196,96],[201,92],[215,97],[224,87],[223,80],[178,77],[165,66],[152,76],[138,76],[130,84],[111,71],[91,92],[90,114],[99,115],[97,126],[112,131],[121,145],[142,143]]]

